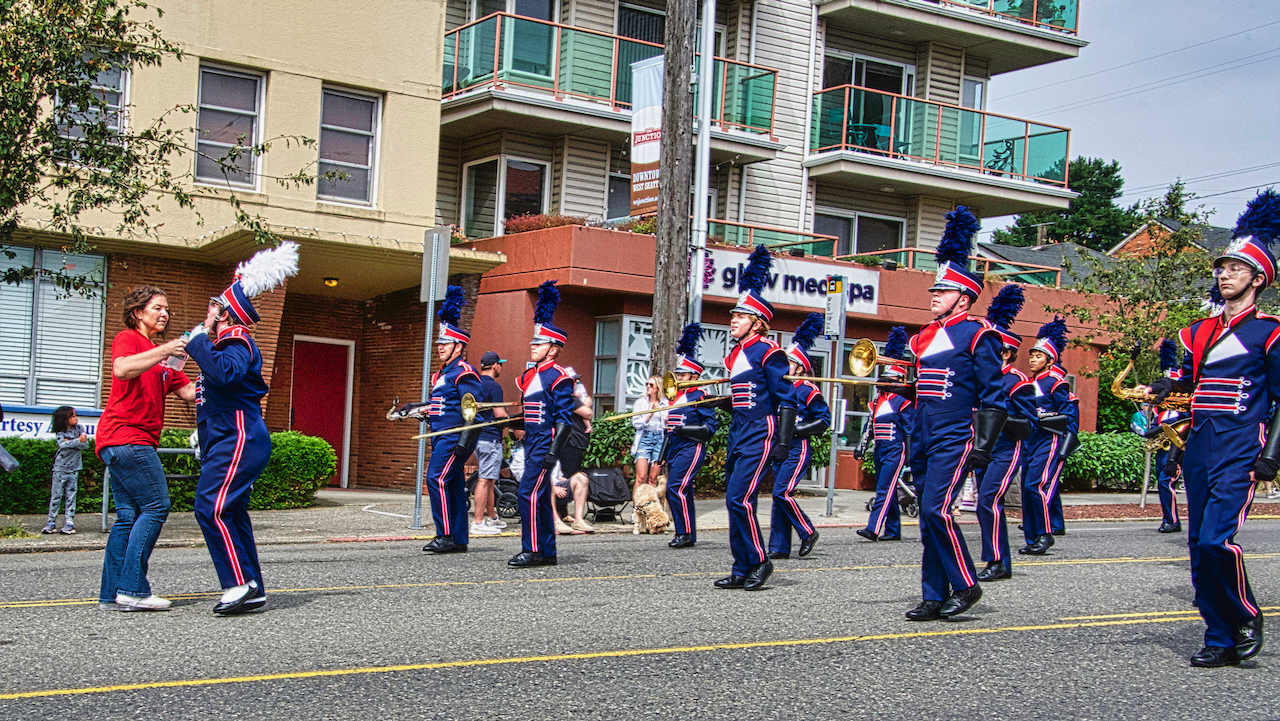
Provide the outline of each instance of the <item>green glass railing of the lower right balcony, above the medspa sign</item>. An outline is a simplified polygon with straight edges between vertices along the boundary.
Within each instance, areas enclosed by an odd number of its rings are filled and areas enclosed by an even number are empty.
[[[852,150],[1066,187],[1071,131],[842,85],[814,93],[814,152]]]

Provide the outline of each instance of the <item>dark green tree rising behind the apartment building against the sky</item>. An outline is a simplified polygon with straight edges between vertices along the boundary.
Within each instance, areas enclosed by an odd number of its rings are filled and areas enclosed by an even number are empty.
[[[1006,246],[1033,246],[1038,227],[1047,224],[1048,237],[1070,241],[1096,251],[1119,243],[1142,223],[1137,205],[1121,207],[1116,200],[1124,188],[1120,164],[1101,158],[1076,158],[1071,161],[1068,186],[1080,193],[1066,210],[1024,213],[1011,227],[995,233],[995,242]]]

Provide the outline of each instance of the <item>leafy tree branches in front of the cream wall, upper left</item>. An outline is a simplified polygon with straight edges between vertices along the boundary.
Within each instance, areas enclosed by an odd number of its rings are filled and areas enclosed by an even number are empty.
[[[150,122],[119,122],[102,79],[182,59],[182,50],[155,24],[161,15],[143,0],[0,0],[0,252],[9,260],[15,257],[9,248],[15,236],[52,236],[76,254],[92,250],[93,236],[155,236],[161,197],[193,214],[201,195],[225,198],[236,222],[259,242],[276,239],[234,193],[193,186],[189,172],[175,172],[193,168],[189,156],[198,154],[189,122],[173,122],[195,117],[193,106],[174,106]],[[301,137],[271,140],[315,145]],[[209,160],[230,170],[238,159],[266,152],[270,145],[241,138],[227,155]],[[274,179],[284,186],[315,182],[305,172]],[[114,228],[82,220],[101,223],[104,213],[114,216]],[[36,273],[14,266],[3,277],[19,283]],[[93,292],[73,273],[38,273],[64,292]]]

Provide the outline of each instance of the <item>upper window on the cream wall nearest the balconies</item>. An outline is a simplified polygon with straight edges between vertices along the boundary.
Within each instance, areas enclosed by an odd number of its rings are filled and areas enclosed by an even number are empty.
[[[316,195],[325,200],[372,204],[374,151],[378,146],[378,99],[325,90],[320,110],[320,175]],[[338,170],[347,179],[323,175]]]

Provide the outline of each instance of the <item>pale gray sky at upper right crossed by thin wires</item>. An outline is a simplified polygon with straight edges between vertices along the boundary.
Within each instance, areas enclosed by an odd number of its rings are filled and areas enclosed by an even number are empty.
[[[1071,158],[1119,160],[1125,205],[1162,195],[1180,177],[1213,196],[1197,202],[1215,210],[1210,223],[1230,227],[1260,188],[1280,187],[1280,3],[1079,4],[1089,42],[1080,56],[995,77],[988,110],[1071,128]],[[1215,38],[1222,40],[1206,42]],[[1111,69],[1128,63],[1135,64]],[[1138,92],[1148,83],[1164,87]],[[1080,106],[1062,108],[1071,104]],[[1260,165],[1270,166],[1238,173]],[[1219,173],[1233,174],[1193,179]],[[1011,222],[991,218],[983,228]]]

